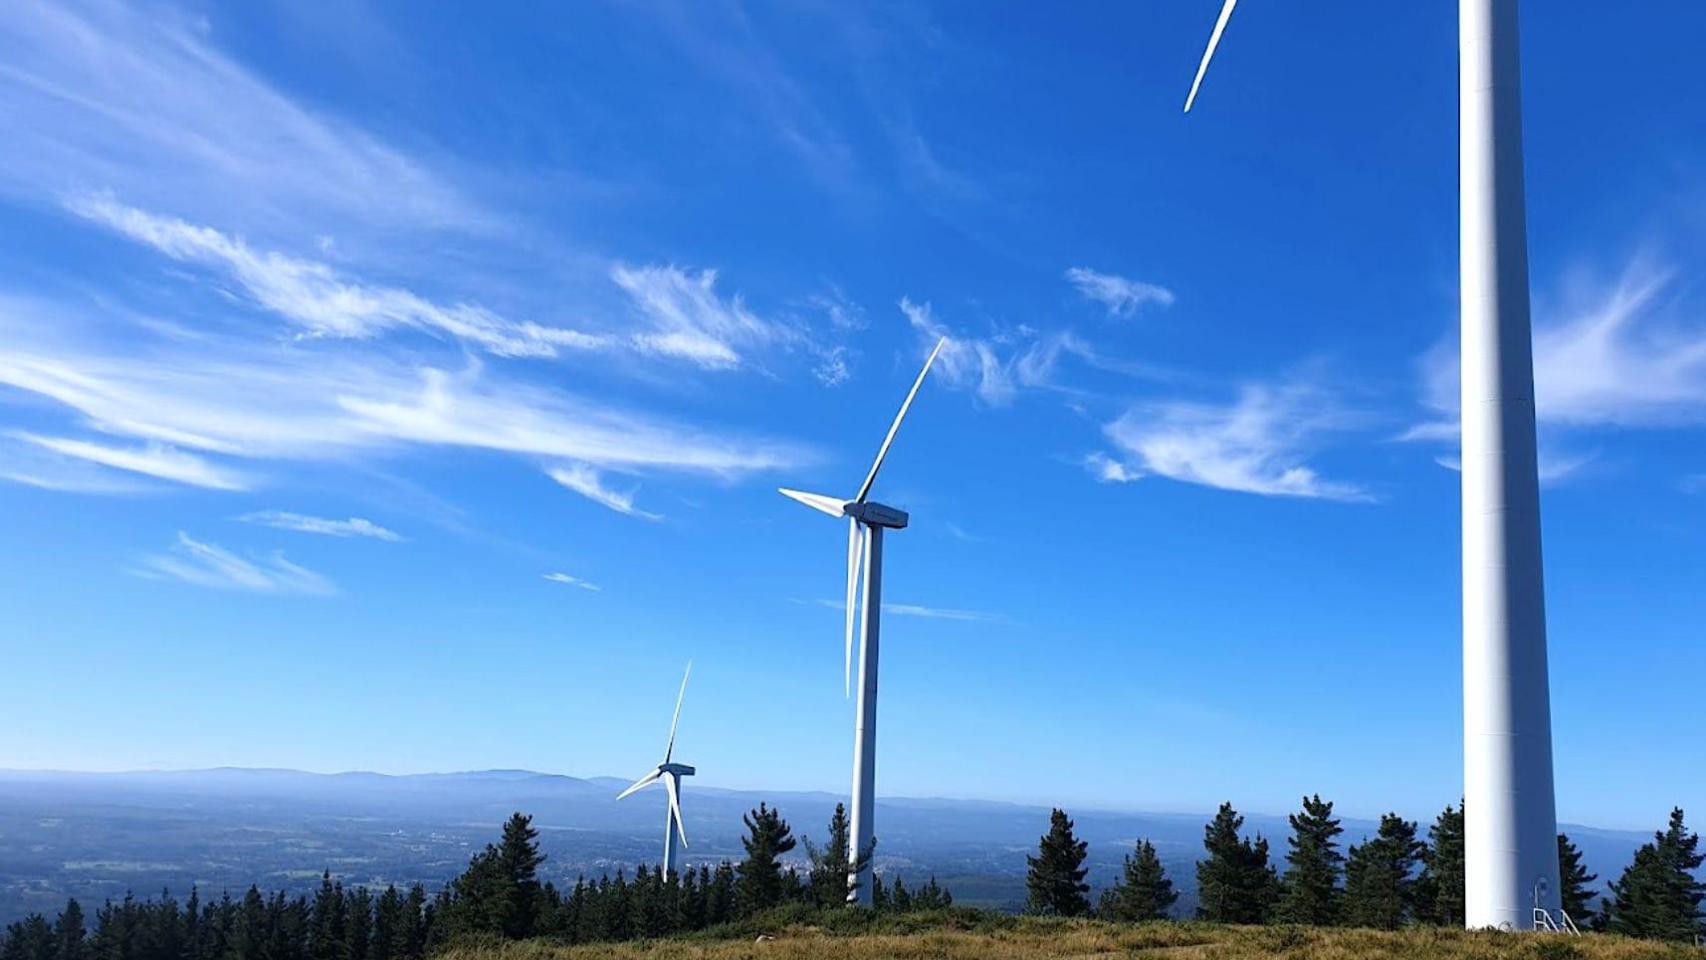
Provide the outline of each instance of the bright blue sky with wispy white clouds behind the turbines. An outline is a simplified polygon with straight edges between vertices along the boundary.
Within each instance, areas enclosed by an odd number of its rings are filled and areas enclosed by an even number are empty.
[[[1455,20],[1249,3],[0,9],[0,766],[1460,791]],[[1706,10],[1529,3],[1559,815],[1706,675]]]

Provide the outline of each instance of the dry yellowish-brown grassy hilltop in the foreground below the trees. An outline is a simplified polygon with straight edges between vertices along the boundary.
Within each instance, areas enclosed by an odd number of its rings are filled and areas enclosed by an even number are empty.
[[[775,940],[763,940],[759,936]],[[619,945],[464,943],[435,960],[1706,960],[1706,948],[1621,936],[1496,934],[1440,928],[1396,933],[1332,928],[1244,928],[1203,922],[1117,924],[969,914],[844,919],[773,914],[701,934]]]

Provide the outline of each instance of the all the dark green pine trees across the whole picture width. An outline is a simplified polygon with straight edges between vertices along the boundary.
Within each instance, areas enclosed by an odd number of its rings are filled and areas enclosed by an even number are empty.
[[[618,873],[580,878],[570,888],[541,882],[539,834],[515,813],[496,844],[469,859],[456,880],[428,895],[408,890],[345,887],[324,875],[314,895],[263,895],[251,887],[203,902],[200,892],[179,902],[125,897],[96,911],[92,926],[77,900],[56,919],[36,914],[7,926],[0,960],[423,960],[461,938],[551,938],[607,943],[706,929],[778,907],[839,909],[848,893],[851,858],[848,817],[836,807],[822,846],[805,839],[805,871],[785,863],[800,842],[775,808],[759,805],[744,817],[746,856],[682,873],[640,866],[630,880]],[[1447,807],[1418,837],[1418,825],[1396,813],[1380,818],[1373,837],[1341,851],[1344,832],[1332,803],[1303,798],[1290,817],[1291,837],[1281,875],[1268,841],[1240,834],[1244,817],[1223,803],[1203,829],[1206,856],[1196,863],[1198,917],[1239,924],[1310,924],[1396,929],[1407,924],[1464,922],[1464,810]],[[1697,870],[1706,859],[1699,837],[1687,832],[1682,810],[1634,854],[1622,876],[1593,909],[1597,880],[1581,853],[1558,837],[1563,904],[1597,929],[1655,940],[1706,934]],[[1054,810],[1049,830],[1029,859],[1027,907],[1053,916],[1100,916],[1112,921],[1160,921],[1179,900],[1150,841],[1138,841],[1117,882],[1090,902],[1083,866],[1088,844],[1071,818]],[[870,851],[865,853],[870,856]],[[938,911],[954,899],[931,876],[916,888],[901,878],[873,878],[879,912]]]

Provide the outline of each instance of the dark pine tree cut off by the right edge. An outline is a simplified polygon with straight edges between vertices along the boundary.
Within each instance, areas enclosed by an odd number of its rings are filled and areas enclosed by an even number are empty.
[[[1682,808],[1672,810],[1668,827],[1634,851],[1634,863],[1610,885],[1610,931],[1682,941],[1706,934],[1706,885],[1696,875],[1706,854],[1697,847],[1699,834],[1687,832]]]

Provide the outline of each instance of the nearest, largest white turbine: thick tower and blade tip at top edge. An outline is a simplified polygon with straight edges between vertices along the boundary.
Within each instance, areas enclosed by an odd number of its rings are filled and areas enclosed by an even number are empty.
[[[1237,0],[1225,0],[1184,109]],[[1459,0],[1464,922],[1559,914],[1517,0]],[[1546,911],[1546,916],[1541,916]]]

